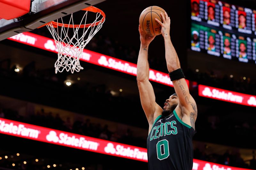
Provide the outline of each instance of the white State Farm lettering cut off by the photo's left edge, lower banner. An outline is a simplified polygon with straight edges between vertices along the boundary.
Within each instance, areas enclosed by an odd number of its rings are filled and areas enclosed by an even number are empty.
[[[27,128],[23,124],[14,125],[13,123],[5,123],[2,120],[0,120],[0,131],[31,138],[38,138],[40,133],[39,130]]]

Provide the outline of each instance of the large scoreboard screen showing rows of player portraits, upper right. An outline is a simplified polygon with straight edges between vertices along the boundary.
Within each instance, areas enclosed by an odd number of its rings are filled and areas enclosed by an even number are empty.
[[[256,64],[256,10],[191,0],[191,50]]]

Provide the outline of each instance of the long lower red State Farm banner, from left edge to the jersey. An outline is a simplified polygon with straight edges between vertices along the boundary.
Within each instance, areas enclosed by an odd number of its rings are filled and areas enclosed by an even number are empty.
[[[107,155],[148,161],[147,149],[0,118],[0,133]]]

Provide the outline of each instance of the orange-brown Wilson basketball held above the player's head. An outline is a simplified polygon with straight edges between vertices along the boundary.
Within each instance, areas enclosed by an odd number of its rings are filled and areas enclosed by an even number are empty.
[[[160,13],[164,15],[164,9],[159,6],[149,6],[143,10],[140,14],[140,27],[141,29],[150,36],[161,34],[161,26],[156,22],[155,18],[163,22]]]

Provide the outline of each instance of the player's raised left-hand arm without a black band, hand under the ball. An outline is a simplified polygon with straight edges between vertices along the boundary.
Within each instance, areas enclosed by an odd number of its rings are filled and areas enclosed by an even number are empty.
[[[142,108],[146,114],[149,125],[152,125],[154,121],[154,113],[156,109],[159,109],[159,106],[156,104],[154,90],[151,83],[149,82],[148,46],[150,42],[155,38],[155,36],[149,36],[146,34],[141,30],[140,26],[139,32],[141,44],[137,63],[137,83],[139,87],[140,102]],[[160,114],[161,113],[162,112],[160,112]]]

